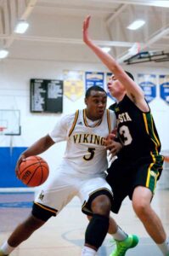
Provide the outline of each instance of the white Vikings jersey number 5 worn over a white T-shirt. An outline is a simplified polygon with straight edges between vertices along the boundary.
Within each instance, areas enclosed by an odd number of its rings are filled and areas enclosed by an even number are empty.
[[[108,167],[104,139],[113,129],[115,113],[108,109],[103,118],[95,122],[87,119],[85,109],[62,117],[49,136],[55,143],[67,141],[62,165],[69,165],[71,173],[65,172],[81,177],[100,176]]]

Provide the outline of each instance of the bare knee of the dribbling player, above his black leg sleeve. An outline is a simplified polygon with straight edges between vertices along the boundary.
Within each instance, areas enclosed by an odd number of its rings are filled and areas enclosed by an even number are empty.
[[[93,213],[97,213],[103,216],[110,215],[111,202],[110,198],[107,195],[97,196],[91,204]]]

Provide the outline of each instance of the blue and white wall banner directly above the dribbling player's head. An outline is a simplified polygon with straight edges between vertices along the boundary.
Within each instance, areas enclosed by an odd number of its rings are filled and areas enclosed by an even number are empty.
[[[86,72],[85,85],[86,90],[93,85],[98,85],[104,89],[104,72]]]

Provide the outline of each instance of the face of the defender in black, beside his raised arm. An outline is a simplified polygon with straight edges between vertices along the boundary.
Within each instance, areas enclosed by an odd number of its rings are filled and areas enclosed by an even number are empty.
[[[110,91],[110,94],[111,96],[114,96],[115,98],[118,99],[119,96],[121,96],[124,91],[125,91],[125,88],[124,86],[121,84],[121,82],[119,80],[117,80],[115,78],[114,75],[112,75],[110,77],[110,80],[107,84],[107,88],[108,90]]]

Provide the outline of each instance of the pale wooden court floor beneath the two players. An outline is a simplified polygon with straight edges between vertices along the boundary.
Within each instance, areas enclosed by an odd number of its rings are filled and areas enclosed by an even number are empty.
[[[14,227],[31,211],[33,193],[0,193],[0,243],[8,238]],[[169,189],[157,189],[152,205],[159,214],[167,234],[169,234]],[[129,250],[126,255],[161,256],[144,230],[143,225],[132,211],[131,201],[124,201],[121,212],[113,215],[118,224],[127,233],[139,236],[138,246]],[[81,212],[78,198],[75,198],[56,218],[51,218],[29,240],[20,245],[13,256],[77,256],[81,255],[87,218]],[[99,256],[109,255],[113,250],[110,246],[110,235],[107,235]]]

